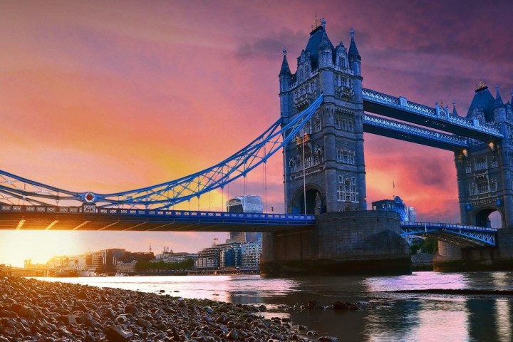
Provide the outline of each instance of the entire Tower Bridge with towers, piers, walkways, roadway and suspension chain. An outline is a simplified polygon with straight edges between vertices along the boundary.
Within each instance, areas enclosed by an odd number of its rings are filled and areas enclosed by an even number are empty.
[[[440,265],[511,267],[512,104],[483,83],[465,117],[362,87],[361,56],[333,46],[326,22],[291,72],[279,72],[278,120],[226,160],[136,190],[73,192],[0,170],[0,229],[265,232],[262,267],[282,271],[392,271],[410,265],[407,235],[440,240]],[[371,115],[373,113],[374,115]],[[367,210],[364,133],[454,152],[462,224],[399,222]],[[284,156],[284,214],[189,212],[175,204],[223,189],[276,152]],[[487,217],[499,212],[502,229]]]

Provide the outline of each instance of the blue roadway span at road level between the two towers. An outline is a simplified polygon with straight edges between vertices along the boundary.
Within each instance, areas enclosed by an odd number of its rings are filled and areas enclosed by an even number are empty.
[[[440,222],[401,222],[400,229],[400,234],[403,237],[408,235],[432,235],[442,241],[464,247],[496,246],[496,228]]]

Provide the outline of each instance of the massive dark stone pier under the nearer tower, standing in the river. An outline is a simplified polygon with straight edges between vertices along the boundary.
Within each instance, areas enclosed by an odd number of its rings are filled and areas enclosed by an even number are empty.
[[[264,233],[261,274],[409,274],[410,247],[395,212],[329,212],[316,227]]]

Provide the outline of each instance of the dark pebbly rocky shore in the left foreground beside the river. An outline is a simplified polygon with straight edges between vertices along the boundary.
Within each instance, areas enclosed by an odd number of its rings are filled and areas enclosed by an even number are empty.
[[[264,306],[0,277],[0,342],[310,341]],[[330,336],[316,341],[337,341]]]

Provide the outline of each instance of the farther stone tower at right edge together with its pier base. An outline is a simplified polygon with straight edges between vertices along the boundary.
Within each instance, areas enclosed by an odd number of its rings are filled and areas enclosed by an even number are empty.
[[[512,99],[513,100],[513,99]],[[453,110],[453,114],[457,114]],[[458,197],[462,224],[492,227],[489,215],[499,212],[497,247],[462,248],[438,242],[434,268],[437,271],[512,269],[513,259],[513,111],[502,101],[499,87],[495,98],[480,82],[467,118],[500,129],[502,140],[469,138],[466,150],[455,152]],[[495,223],[495,222],[494,222]]]

